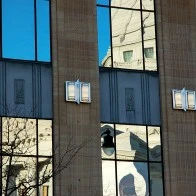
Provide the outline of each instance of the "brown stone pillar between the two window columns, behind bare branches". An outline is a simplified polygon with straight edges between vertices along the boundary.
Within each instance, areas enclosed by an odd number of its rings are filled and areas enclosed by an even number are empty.
[[[54,195],[102,195],[95,0],[52,0],[54,146],[92,140],[55,177]],[[91,83],[92,103],[65,102],[64,81]],[[56,160],[58,161],[58,160]]]

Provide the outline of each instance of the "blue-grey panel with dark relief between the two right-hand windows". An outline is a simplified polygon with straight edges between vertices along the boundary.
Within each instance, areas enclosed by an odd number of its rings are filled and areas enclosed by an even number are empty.
[[[160,125],[158,75],[101,71],[100,89],[102,122]]]

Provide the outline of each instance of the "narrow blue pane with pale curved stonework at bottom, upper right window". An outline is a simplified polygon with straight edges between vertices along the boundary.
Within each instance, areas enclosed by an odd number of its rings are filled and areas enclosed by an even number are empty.
[[[109,9],[97,8],[99,66],[111,67]]]

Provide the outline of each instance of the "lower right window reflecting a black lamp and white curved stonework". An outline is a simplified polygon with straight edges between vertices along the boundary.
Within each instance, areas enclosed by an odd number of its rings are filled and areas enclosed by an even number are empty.
[[[103,196],[163,195],[160,127],[103,123],[101,139]]]

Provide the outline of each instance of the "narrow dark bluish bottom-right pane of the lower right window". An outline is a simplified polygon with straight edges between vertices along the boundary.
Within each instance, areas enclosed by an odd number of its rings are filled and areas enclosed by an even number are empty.
[[[161,163],[150,163],[151,196],[163,196],[163,176]]]

